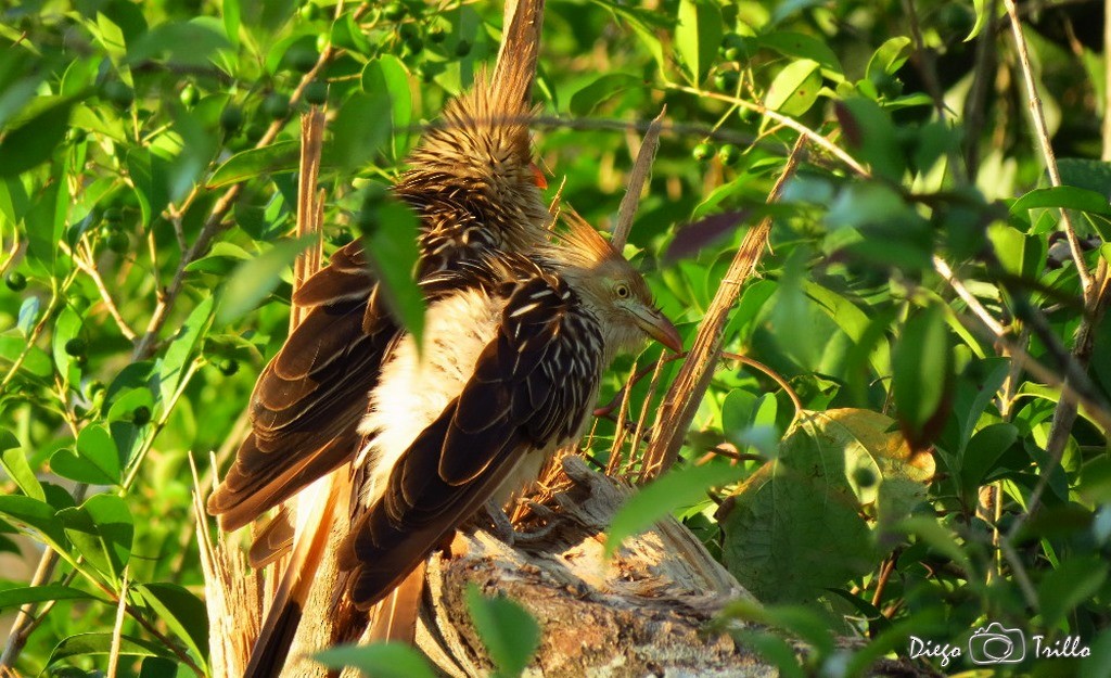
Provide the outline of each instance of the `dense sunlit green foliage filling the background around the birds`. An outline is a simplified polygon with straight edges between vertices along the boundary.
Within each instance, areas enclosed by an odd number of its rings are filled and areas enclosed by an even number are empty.
[[[0,609],[6,625],[33,612],[0,664],[203,675],[188,457],[208,487],[208,453],[230,459],[286,332],[298,116],[330,116],[326,250],[396,252],[380,273],[417,322],[412,220],[382,187],[491,61],[501,8],[2,11]],[[989,621],[1091,648],[999,672],[1111,675],[1103,8],[1029,2],[1015,19],[1060,188],[998,2],[549,3],[537,142],[552,190],[611,222],[667,104],[627,255],[688,346],[744,232],[772,219],[724,329],[748,361],[721,362],[679,470],[641,506],[674,508],[765,604],[725,616],[767,625],[742,640],[784,675],[860,675],[910,635],[967,648]],[[803,161],[765,205],[800,134]],[[614,366],[603,402],[632,369]],[[1074,423],[1064,376],[1088,403]],[[599,422],[594,458],[615,431]]]

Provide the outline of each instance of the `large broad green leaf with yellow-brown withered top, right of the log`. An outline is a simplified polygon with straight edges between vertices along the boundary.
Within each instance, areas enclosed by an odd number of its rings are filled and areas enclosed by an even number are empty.
[[[878,556],[860,502],[898,514],[932,475],[910,456],[893,422],[865,410],[803,412],[779,457],[751,475],[718,512],[725,566],[765,601],[805,602],[868,572]],[[929,460],[932,462],[932,460]],[[861,482],[867,469],[872,482]],[[894,491],[883,495],[892,482]]]

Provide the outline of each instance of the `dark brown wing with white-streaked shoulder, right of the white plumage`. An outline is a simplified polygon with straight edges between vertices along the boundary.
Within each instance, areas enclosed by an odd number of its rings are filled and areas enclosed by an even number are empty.
[[[528,453],[578,432],[594,397],[601,335],[565,285],[516,286],[461,393],[394,465],[340,551],[367,608],[473,515]]]

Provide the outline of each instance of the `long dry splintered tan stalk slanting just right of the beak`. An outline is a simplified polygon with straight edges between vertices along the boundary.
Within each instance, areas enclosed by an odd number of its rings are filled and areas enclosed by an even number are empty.
[[[791,156],[783,167],[783,173],[768,196],[768,202],[779,199],[780,191],[787,180],[794,175],[805,147],[807,137],[800,136]],[[718,292],[707,309],[705,319],[699,327],[698,336],[690,355],[679,369],[679,375],[663,397],[659,415],[653,426],[652,441],[644,452],[644,465],[640,480],[650,480],[674,463],[682,447],[687,429],[694,419],[705,389],[710,386],[714,366],[721,357],[722,331],[729,321],[729,312],[741,293],[744,281],[755,270],[768,247],[768,236],[771,232],[771,217],[765,217],[744,235],[737,256],[733,257],[725,277],[718,286]]]

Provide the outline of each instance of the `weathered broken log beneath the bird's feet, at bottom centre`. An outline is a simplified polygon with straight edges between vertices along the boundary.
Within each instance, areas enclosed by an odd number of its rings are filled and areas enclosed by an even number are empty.
[[[707,621],[734,597],[749,597],[674,519],[627,540],[612,559],[603,530],[631,490],[571,457],[575,481],[556,496],[541,536],[509,546],[486,531],[462,536],[463,552],[437,555],[418,642],[447,675],[489,675],[464,591],[520,602],[542,629],[527,676],[772,676],[774,669]],[[434,602],[433,602],[434,601]]]

